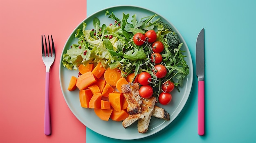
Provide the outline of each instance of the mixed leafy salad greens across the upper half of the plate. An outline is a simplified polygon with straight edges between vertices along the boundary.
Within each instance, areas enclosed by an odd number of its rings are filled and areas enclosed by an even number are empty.
[[[175,42],[176,46],[168,45],[173,43],[173,39],[168,41],[171,37],[170,33],[175,34],[168,24],[157,18],[157,14],[141,18],[139,21],[135,14],[132,15],[130,22],[128,22],[129,14],[123,13],[121,19],[117,18],[113,12],[106,11],[105,15],[114,20],[115,24],[101,25],[100,20],[94,18],[94,29],[86,29],[87,24],[83,22],[82,29],[76,30],[75,37],[78,38],[78,42],[72,44],[71,48],[63,54],[64,67],[77,70],[80,64],[101,62],[104,68],[119,68],[123,77],[130,73],[137,75],[147,71],[153,78],[151,86],[155,90],[155,95],[159,95],[161,83],[165,81],[171,80],[176,88],[182,86],[183,79],[189,74],[189,66],[184,60],[185,51],[180,49],[183,43]],[[168,73],[162,79],[157,79],[153,74],[155,64],[150,61],[153,53],[151,44],[145,41],[142,46],[137,46],[132,40],[136,33],[145,34],[149,30],[155,30],[157,41],[164,44],[161,64],[166,67]]]

